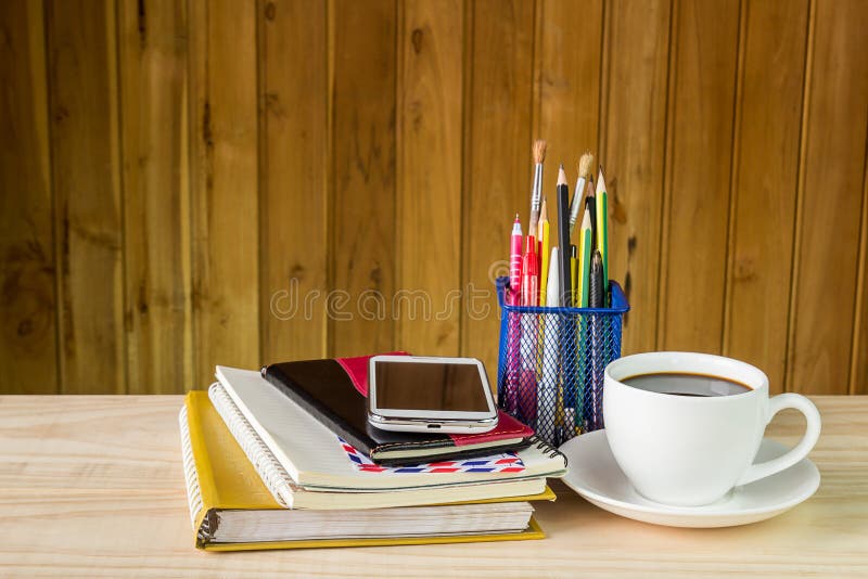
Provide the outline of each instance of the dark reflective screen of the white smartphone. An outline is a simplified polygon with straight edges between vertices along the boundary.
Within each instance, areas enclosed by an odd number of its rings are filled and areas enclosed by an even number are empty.
[[[376,361],[374,365],[379,408],[488,411],[476,364]]]

